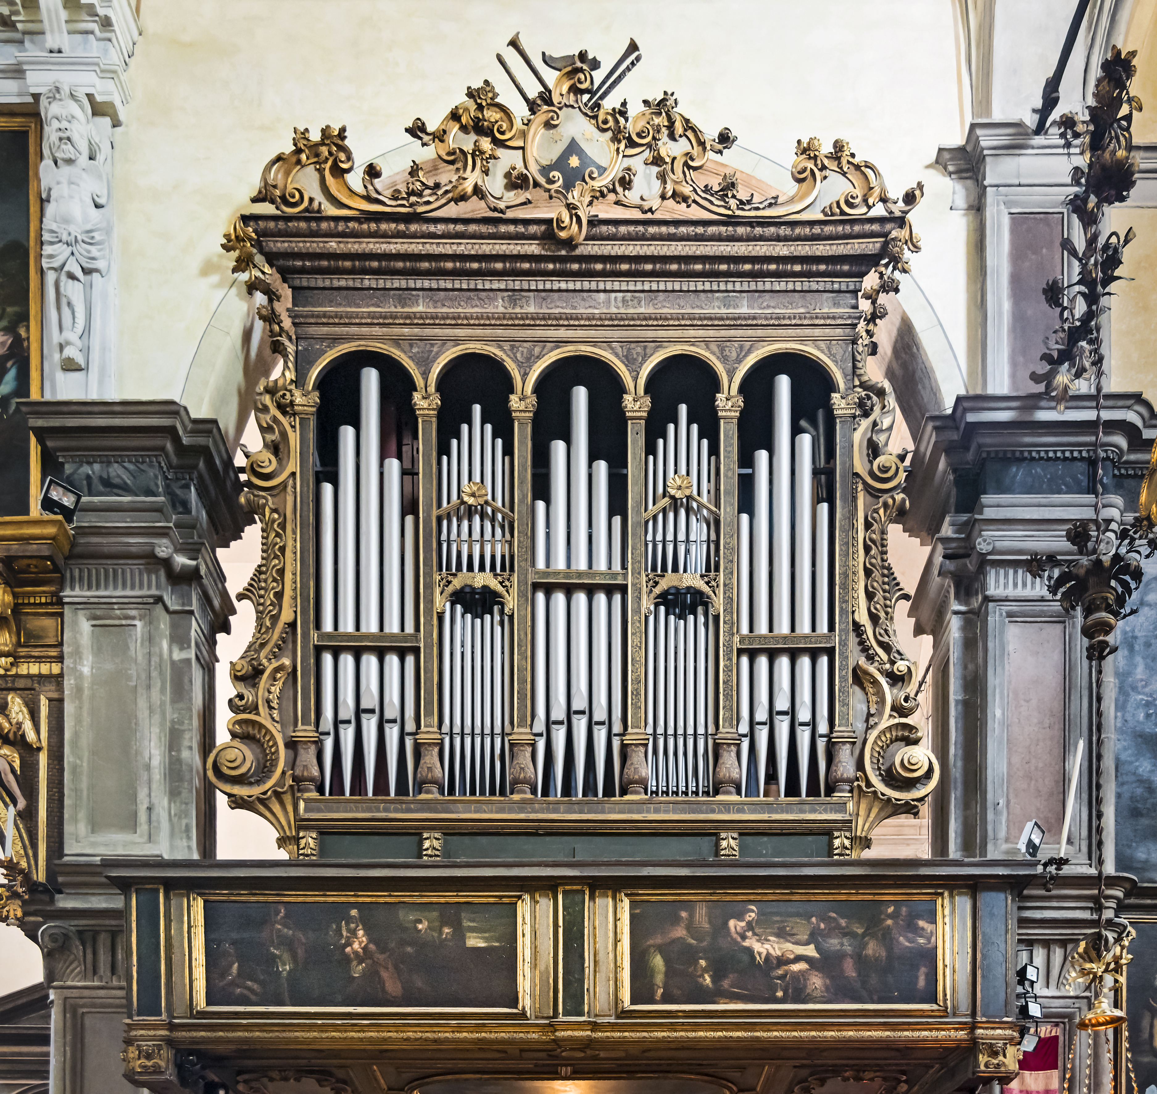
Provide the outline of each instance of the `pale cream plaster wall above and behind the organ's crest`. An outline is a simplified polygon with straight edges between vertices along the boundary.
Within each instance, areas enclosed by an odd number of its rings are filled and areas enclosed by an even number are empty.
[[[585,47],[604,65],[634,36],[643,60],[621,86],[633,108],[671,89],[705,127],[730,126],[780,162],[796,138],[843,137],[893,194],[923,179],[914,270],[963,358],[968,214],[950,212],[930,164],[937,144],[964,135],[951,5],[879,0],[862,15],[850,0],[145,3],[134,97],[115,134],[120,395],[180,397],[231,281],[221,233],[255,208],[261,168],[294,126],[346,124],[362,161],[405,144],[415,116],[435,125],[467,83],[492,79],[517,103],[494,59],[516,30],[535,57]],[[234,383],[205,404],[227,428],[229,398],[249,398]]]

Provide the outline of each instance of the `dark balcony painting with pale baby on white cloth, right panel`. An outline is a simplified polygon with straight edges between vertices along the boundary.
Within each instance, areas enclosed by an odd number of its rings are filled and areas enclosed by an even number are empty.
[[[631,1006],[939,999],[935,900],[631,901]]]

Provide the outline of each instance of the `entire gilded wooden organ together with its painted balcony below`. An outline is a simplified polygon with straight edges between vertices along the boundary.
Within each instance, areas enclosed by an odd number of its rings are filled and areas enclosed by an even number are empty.
[[[1007,1079],[1027,867],[853,861],[938,779],[871,364],[920,189],[813,139],[774,190],[548,63],[523,117],[487,82],[417,120],[397,177],[299,131],[226,236],[282,367],[208,774],[296,861],[109,866],[126,1073]]]

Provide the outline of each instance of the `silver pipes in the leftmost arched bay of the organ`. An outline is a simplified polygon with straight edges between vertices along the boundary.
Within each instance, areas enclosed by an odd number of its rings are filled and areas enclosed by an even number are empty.
[[[377,369],[363,368],[360,381],[358,427],[338,429],[337,490],[327,482],[318,486],[318,630],[414,631],[415,521],[401,514],[401,462],[382,458]],[[383,776],[386,794],[413,792],[417,668],[412,648],[320,651],[318,735],[326,792],[336,756],[346,795],[356,786],[373,794]],[[403,758],[405,771],[399,770]]]

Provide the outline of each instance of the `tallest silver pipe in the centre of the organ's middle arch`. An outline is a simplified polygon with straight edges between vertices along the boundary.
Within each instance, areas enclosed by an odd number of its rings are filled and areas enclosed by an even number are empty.
[[[590,568],[590,464],[587,389],[570,389],[570,568]],[[585,796],[590,727],[590,596],[570,594],[570,752],[575,796]]]

